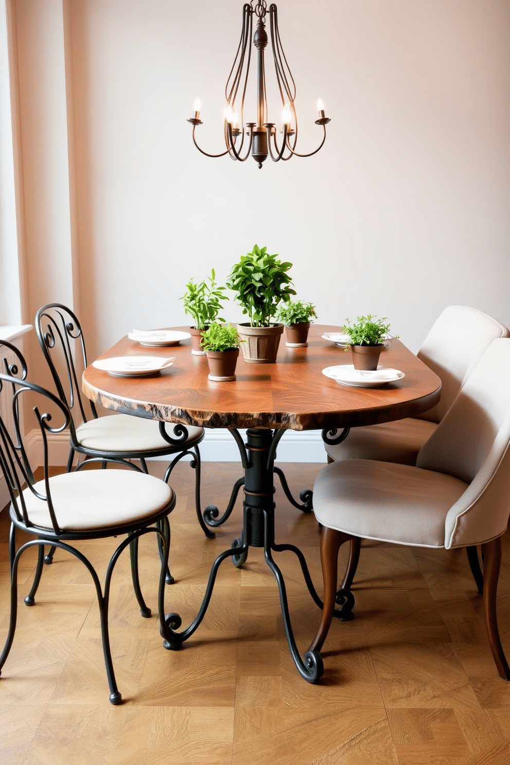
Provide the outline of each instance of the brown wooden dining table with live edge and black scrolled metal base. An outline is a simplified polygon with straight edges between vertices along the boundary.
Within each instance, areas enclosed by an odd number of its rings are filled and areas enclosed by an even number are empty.
[[[187,327],[176,327],[187,330]],[[181,626],[178,614],[167,614],[164,646],[179,649],[194,633],[203,619],[213,592],[219,565],[232,558],[241,566],[250,547],[263,547],[265,560],[278,582],[281,610],[287,643],[300,674],[308,682],[317,682],[323,672],[320,653],[307,652],[301,658],[291,628],[284,579],[272,552],[290,550],[297,555],[304,579],[313,600],[322,601],[313,587],[303,553],[294,545],[278,545],[274,540],[274,473],[282,481],[287,497],[295,506],[309,512],[312,493],[302,492],[302,505],[291,497],[284,475],[274,467],[276,448],[284,432],[320,429],[325,441],[339,442],[349,428],[374,425],[426,412],[440,398],[440,379],[399,340],[392,340],[382,351],[379,366],[393,367],[404,372],[404,378],[378,388],[355,388],[339,385],[322,374],[327,366],[352,363],[351,354],[321,336],[340,331],[340,327],[312,324],[308,347],[286,347],[284,336],[280,343],[277,363],[245,363],[239,356],[234,382],[211,382],[207,360],[191,354],[190,341],[176,347],[144,347],[128,340],[119,340],[101,358],[111,356],[175,356],[173,366],[154,376],[119,378],[87,366],[83,373],[83,391],[89,399],[118,412],[156,419],[160,431],[171,443],[187,438],[186,425],[204,428],[228,428],[236,439],[241,454],[244,477],[236,483],[226,513],[210,506],[204,520],[215,527],[229,516],[241,486],[243,501],[242,534],[232,548],[216,558],[210,572],[202,605],[187,629]],[[182,425],[177,437],[164,430],[165,422]],[[243,443],[238,428],[248,428]],[[339,610],[340,618],[341,610]]]

